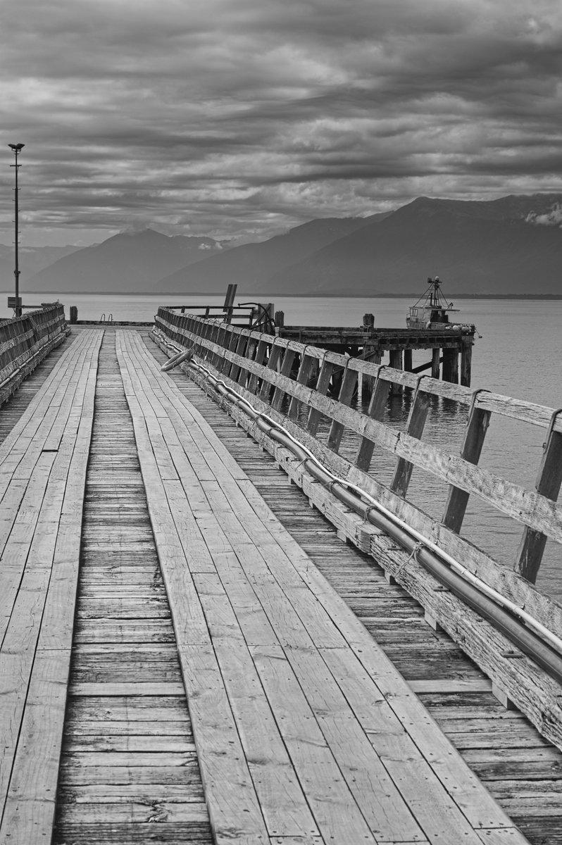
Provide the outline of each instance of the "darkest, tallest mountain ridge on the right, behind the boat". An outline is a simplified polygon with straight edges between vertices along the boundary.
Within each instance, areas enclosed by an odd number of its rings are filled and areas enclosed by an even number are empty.
[[[560,207],[562,194],[490,202],[420,197],[287,267],[270,278],[271,289],[413,294],[428,275],[439,275],[448,294],[562,294]]]

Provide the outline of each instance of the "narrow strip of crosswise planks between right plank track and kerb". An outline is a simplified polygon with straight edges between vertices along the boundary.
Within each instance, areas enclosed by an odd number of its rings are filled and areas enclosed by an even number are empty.
[[[149,348],[159,363],[166,360],[156,347],[149,344]],[[336,528],[321,511],[308,507],[300,488],[287,484],[286,473],[276,466],[274,458],[248,439],[243,428],[237,428],[221,407],[227,407],[227,403],[209,401],[205,392],[179,370],[172,371],[172,378],[401,673],[412,685],[419,684],[418,695],[439,727],[529,841],[536,845],[562,842],[559,750],[552,746],[544,749],[537,729],[521,713],[505,711],[499,705],[489,680],[445,632],[436,632],[424,622],[423,609],[400,586],[385,580],[374,559],[337,540]],[[431,684],[439,681],[434,692],[423,692],[428,679]],[[459,719],[470,725],[462,734],[457,727]],[[505,729],[506,722],[510,729]],[[486,723],[488,729],[484,730]],[[470,748],[464,747],[467,741]],[[539,798],[530,806],[529,791],[544,795],[544,801]],[[553,810],[556,806],[558,811]]]

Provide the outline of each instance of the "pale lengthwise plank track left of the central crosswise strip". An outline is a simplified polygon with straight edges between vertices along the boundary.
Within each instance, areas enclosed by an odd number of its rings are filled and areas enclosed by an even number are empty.
[[[0,842],[51,836],[102,335],[59,358],[0,445]]]

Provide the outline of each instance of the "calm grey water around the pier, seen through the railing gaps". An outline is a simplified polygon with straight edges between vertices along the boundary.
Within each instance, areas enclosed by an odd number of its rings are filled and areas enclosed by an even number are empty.
[[[39,298],[39,297],[36,297]],[[150,320],[161,304],[220,304],[223,297],[101,296],[83,294],[43,294],[41,300],[60,299],[67,308],[76,305],[79,319],[106,318]],[[253,297],[239,294],[237,302]],[[374,324],[404,326],[406,299],[334,297],[276,297],[275,308],[285,312],[287,325],[360,325],[363,313],[374,313]],[[458,319],[474,323],[482,337],[477,338],[472,355],[472,388],[493,390],[518,399],[549,407],[562,407],[562,300],[548,302],[521,300],[459,300]],[[5,314],[8,316],[8,313]],[[414,366],[428,360],[427,352],[414,352]],[[388,407],[387,422],[403,428],[408,399],[398,399]],[[466,413],[451,403],[436,402],[424,439],[441,448],[461,447]],[[533,488],[543,452],[544,430],[505,418],[494,419],[488,431],[480,465],[512,482]],[[350,452],[352,439],[342,444]],[[382,482],[390,481],[394,461],[375,453],[372,472]],[[446,498],[446,486],[414,470],[409,495],[439,517]],[[471,499],[463,535],[505,565],[516,557],[521,526]],[[562,555],[555,543],[548,543],[538,586],[562,599]]]

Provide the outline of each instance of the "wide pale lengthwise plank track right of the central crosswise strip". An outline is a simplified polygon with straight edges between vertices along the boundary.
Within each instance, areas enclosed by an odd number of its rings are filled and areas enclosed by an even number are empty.
[[[189,702],[195,740],[217,841],[221,841],[221,831],[228,823],[229,814],[231,824],[239,826],[237,841],[258,842],[280,835],[279,828],[274,828],[278,807],[273,804],[269,790],[263,789],[263,784],[254,777],[249,762],[242,759],[242,752],[248,754],[244,747],[244,731],[248,731],[248,726],[237,715],[243,701],[239,695],[241,691],[244,694],[242,679],[246,673],[249,678],[255,678],[254,672],[257,672],[260,685],[248,683],[245,695],[248,699],[262,696],[263,706],[272,711],[280,739],[286,745],[297,774],[296,782],[303,786],[303,797],[312,810],[313,823],[318,826],[320,841],[349,842],[350,837],[354,842],[375,841],[376,837],[379,842],[426,838],[430,842],[443,842],[444,838],[452,842],[461,831],[463,841],[476,843],[481,842],[477,831],[488,828],[490,833],[509,832],[511,841],[523,842],[523,837],[514,832],[510,820],[477,784],[428,717],[423,720],[426,739],[420,743],[419,736],[412,732],[412,718],[419,715],[415,696],[409,690],[406,694],[406,684],[391,668],[390,662],[374,646],[344,602],[315,572],[306,555],[300,550],[297,553],[297,544],[277,525],[273,515],[267,513],[268,509],[259,502],[259,497],[250,497],[254,507],[246,500],[248,485],[243,472],[227,453],[225,460],[221,460],[226,452],[224,447],[199,413],[179,394],[172,379],[159,373],[139,338],[132,333],[118,332],[117,346],[165,577],[166,569],[172,570],[172,581],[166,581],[166,586],[172,613],[180,620],[180,657],[186,689],[193,695]],[[187,464],[190,469],[186,475],[182,470]],[[182,470],[178,471],[180,465]],[[231,467],[232,472],[229,472]],[[177,479],[181,481],[178,483]],[[199,548],[203,548],[200,546],[203,539],[210,558],[217,558],[215,578],[209,572],[206,554],[203,555],[204,567],[210,577],[204,577],[203,573],[196,575],[199,556],[191,552],[188,537],[181,537],[186,524],[179,519],[174,521],[172,505],[166,512],[166,493],[170,494],[177,512],[182,510],[182,489],[183,511],[191,510],[194,517],[188,520],[191,536],[199,528]],[[180,548],[183,559],[180,559],[179,568],[184,570],[182,580],[187,586],[187,594],[183,597],[175,591]],[[292,553],[296,553],[296,561],[292,560]],[[228,568],[235,559],[237,578],[243,575],[246,587],[238,592],[239,598],[229,602],[226,586],[221,581],[221,567],[226,564]],[[189,577],[186,575],[188,568],[192,570]],[[319,597],[314,595],[311,586]],[[259,640],[256,622],[267,620],[263,626],[263,636],[269,638],[267,645],[258,642],[248,647],[243,636],[244,628],[248,630],[248,616],[252,615],[248,613],[252,602],[250,591],[254,592],[254,607],[259,609],[253,619],[254,636]],[[182,620],[186,599],[191,613],[197,617],[195,639],[185,637],[186,631],[194,633],[193,625],[188,624],[186,628]],[[240,599],[241,605],[237,604]],[[245,618],[237,619],[238,608],[245,608]],[[208,620],[208,626],[205,620]],[[271,642],[272,631],[277,643]],[[346,653],[362,664],[363,678],[369,689],[373,684],[382,683],[380,699],[390,705],[385,714],[386,733],[390,739],[401,738],[402,746],[406,742],[402,755],[406,761],[411,761],[408,754],[413,754],[412,759],[417,760],[414,766],[395,766],[390,757],[385,760],[384,749],[379,753],[369,741],[367,724],[362,721],[362,708],[357,707],[356,712],[349,706],[346,674],[330,671],[329,661],[325,659],[332,651]],[[254,669],[251,669],[252,665]],[[203,679],[210,684],[214,695],[210,695],[206,684],[202,688]],[[313,679],[322,681],[320,688]],[[353,684],[357,683],[361,686],[363,682],[356,677]],[[199,707],[201,697],[205,698],[205,703],[212,698],[212,717],[205,708]],[[293,702],[291,707],[287,706],[289,700]],[[410,704],[411,712],[408,711]],[[402,707],[406,711],[403,717]],[[388,729],[389,719],[392,730]],[[238,743],[242,743],[242,748],[237,743],[235,730],[240,735]],[[314,732],[318,741],[313,739],[311,742],[308,737],[314,736]],[[439,755],[433,755],[429,749],[434,734],[436,738],[439,736],[439,748],[445,745],[447,757],[454,760],[452,768],[449,765],[444,769]],[[225,737],[232,737],[236,749],[237,774],[239,783],[243,784],[240,794],[248,797],[247,819],[254,814],[251,831],[243,826],[241,808],[232,806],[232,798],[224,787],[226,779],[232,777],[232,770],[223,768],[219,782],[224,761],[217,759],[216,749],[221,747]],[[260,740],[259,735],[252,739],[258,747],[261,741],[266,754],[269,744]],[[246,745],[249,747],[248,742]],[[311,756],[312,750],[315,751]],[[228,765],[232,766],[232,760]],[[411,770],[416,772],[413,777]],[[450,781],[451,772],[455,782]],[[466,786],[469,787],[468,797],[459,800],[459,793]],[[381,788],[385,801],[381,800],[377,808],[376,795]],[[423,808],[417,788],[419,794],[436,802],[437,810]],[[327,800],[329,796],[330,800]],[[330,804],[333,804],[332,810]],[[265,829],[263,825],[259,826],[260,805]],[[345,808],[343,813],[342,808]],[[231,837],[232,833],[231,828]],[[255,838],[257,836],[264,838],[260,840]],[[292,831],[286,830],[286,836],[292,836]]]

